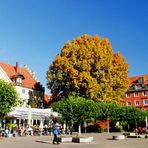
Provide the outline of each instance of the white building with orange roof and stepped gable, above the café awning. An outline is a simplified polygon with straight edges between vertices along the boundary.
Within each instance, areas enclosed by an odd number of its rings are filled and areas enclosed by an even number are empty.
[[[13,83],[23,107],[43,108],[44,87],[35,78],[35,73],[27,66],[20,67],[0,63],[0,78]]]

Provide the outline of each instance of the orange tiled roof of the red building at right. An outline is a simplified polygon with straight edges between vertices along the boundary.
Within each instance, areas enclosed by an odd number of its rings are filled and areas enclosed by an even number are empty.
[[[134,76],[129,78],[129,84],[130,86],[134,84],[139,78],[144,78],[144,84],[148,84],[148,74],[141,75],[141,76]]]

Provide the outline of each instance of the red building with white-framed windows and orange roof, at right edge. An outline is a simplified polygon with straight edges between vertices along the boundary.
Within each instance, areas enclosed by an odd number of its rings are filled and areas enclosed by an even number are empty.
[[[125,94],[126,106],[148,110],[148,75],[129,78],[129,88]]]

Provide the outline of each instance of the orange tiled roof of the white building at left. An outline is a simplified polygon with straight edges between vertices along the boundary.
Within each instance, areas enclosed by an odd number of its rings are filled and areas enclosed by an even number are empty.
[[[0,63],[0,66],[9,76],[9,78],[12,78],[15,75],[18,75],[18,73],[24,76],[25,79],[22,82],[23,87],[35,88],[37,81],[33,78],[33,76],[30,74],[30,72],[26,68],[20,68],[20,67],[12,66],[5,63]]]

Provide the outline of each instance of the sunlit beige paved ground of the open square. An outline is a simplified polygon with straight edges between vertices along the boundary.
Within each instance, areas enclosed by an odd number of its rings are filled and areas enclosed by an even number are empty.
[[[117,133],[116,133],[117,134]],[[52,136],[27,136],[0,139],[0,148],[146,148],[148,138],[126,138],[124,140],[112,140],[115,133],[86,134],[93,136],[91,143],[60,143],[52,144]],[[82,135],[83,136],[83,135]]]

